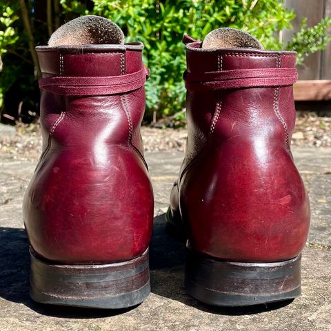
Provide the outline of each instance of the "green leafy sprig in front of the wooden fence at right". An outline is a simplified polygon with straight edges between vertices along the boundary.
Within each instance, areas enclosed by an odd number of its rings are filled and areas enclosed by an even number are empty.
[[[305,57],[308,57],[310,53],[324,50],[328,46],[331,41],[331,35],[328,33],[330,26],[331,17],[325,17],[312,28],[308,28],[307,19],[303,19],[301,30],[294,33],[292,41],[285,46],[285,49],[298,52],[297,64],[303,63]]]

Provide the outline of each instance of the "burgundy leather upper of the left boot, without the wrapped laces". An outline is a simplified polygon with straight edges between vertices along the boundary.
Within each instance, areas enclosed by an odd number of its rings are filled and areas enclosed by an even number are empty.
[[[143,68],[142,45],[37,48],[43,77]],[[148,248],[153,194],[140,124],[145,90],[68,97],[41,91],[43,154],[23,201],[32,248],[60,263],[112,263]]]

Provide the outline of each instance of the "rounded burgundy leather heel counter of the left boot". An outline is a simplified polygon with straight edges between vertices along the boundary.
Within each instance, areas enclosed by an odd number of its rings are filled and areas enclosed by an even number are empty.
[[[34,174],[23,214],[42,257],[116,262],[148,248],[154,206],[145,165],[128,148],[105,152],[109,165],[103,167],[77,149],[52,153]]]

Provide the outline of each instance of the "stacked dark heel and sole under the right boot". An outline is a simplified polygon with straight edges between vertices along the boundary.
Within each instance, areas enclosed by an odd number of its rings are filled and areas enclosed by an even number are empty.
[[[220,261],[187,249],[185,290],[209,305],[244,306],[301,295],[301,254],[288,261]]]

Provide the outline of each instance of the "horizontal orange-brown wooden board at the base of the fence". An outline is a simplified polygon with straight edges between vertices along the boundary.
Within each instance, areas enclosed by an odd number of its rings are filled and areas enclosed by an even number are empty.
[[[293,93],[295,101],[331,100],[331,80],[297,81]]]

